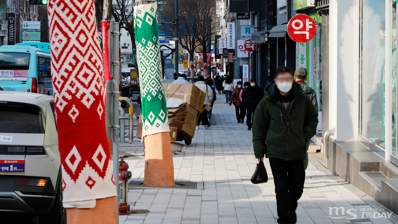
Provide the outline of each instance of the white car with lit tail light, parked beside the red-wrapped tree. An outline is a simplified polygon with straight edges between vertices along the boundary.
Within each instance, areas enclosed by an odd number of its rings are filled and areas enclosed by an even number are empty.
[[[0,214],[66,223],[54,98],[0,91]],[[17,216],[15,215],[17,214]]]

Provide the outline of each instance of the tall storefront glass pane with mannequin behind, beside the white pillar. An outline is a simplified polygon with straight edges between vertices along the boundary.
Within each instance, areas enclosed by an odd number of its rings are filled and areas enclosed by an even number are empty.
[[[361,7],[360,134],[385,146],[385,2],[363,0]]]

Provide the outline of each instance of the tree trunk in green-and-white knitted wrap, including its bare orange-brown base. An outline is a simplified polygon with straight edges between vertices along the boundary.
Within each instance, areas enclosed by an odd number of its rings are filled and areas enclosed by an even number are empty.
[[[156,187],[173,187],[174,184],[174,165],[170,143],[169,125],[167,116],[166,99],[164,96],[162,69],[160,68],[160,45],[157,23],[158,13],[156,12],[156,2],[142,4],[137,2],[134,7],[135,24],[137,26],[135,36],[137,39],[137,61],[140,76],[141,91],[141,116],[142,116],[142,138],[145,145],[145,173],[144,185]],[[143,20],[146,15],[146,20]],[[149,17],[149,18],[148,18]],[[149,49],[155,49],[150,53]],[[152,51],[152,50],[151,50]],[[150,68],[158,68],[151,70]],[[155,83],[159,86],[156,90],[147,91]]]

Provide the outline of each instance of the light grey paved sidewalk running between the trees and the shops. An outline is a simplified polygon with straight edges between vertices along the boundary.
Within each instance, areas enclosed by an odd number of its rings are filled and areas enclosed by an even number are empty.
[[[203,130],[200,126],[191,145],[174,155],[176,181],[204,181],[204,190],[130,190],[131,208],[150,212],[119,216],[120,224],[276,223],[275,186],[269,162],[265,163],[269,181],[252,184],[250,178],[257,164],[252,132],[246,124],[236,123],[235,108],[222,103],[224,98],[224,94],[217,94],[220,103],[214,104],[211,128]],[[133,173],[131,180],[143,181],[144,159],[138,158],[127,160]],[[298,201],[297,223],[398,223],[395,214],[388,213],[389,219],[376,218],[380,213],[388,217],[386,212],[390,211],[352,185],[342,180],[310,178],[324,176],[325,170],[310,158],[304,193]],[[330,213],[329,207],[343,207],[345,215],[341,208],[337,215],[336,209]]]

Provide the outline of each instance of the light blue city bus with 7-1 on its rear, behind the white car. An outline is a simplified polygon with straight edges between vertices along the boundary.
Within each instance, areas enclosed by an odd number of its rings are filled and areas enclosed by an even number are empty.
[[[49,43],[1,46],[0,86],[6,91],[53,95]]]

